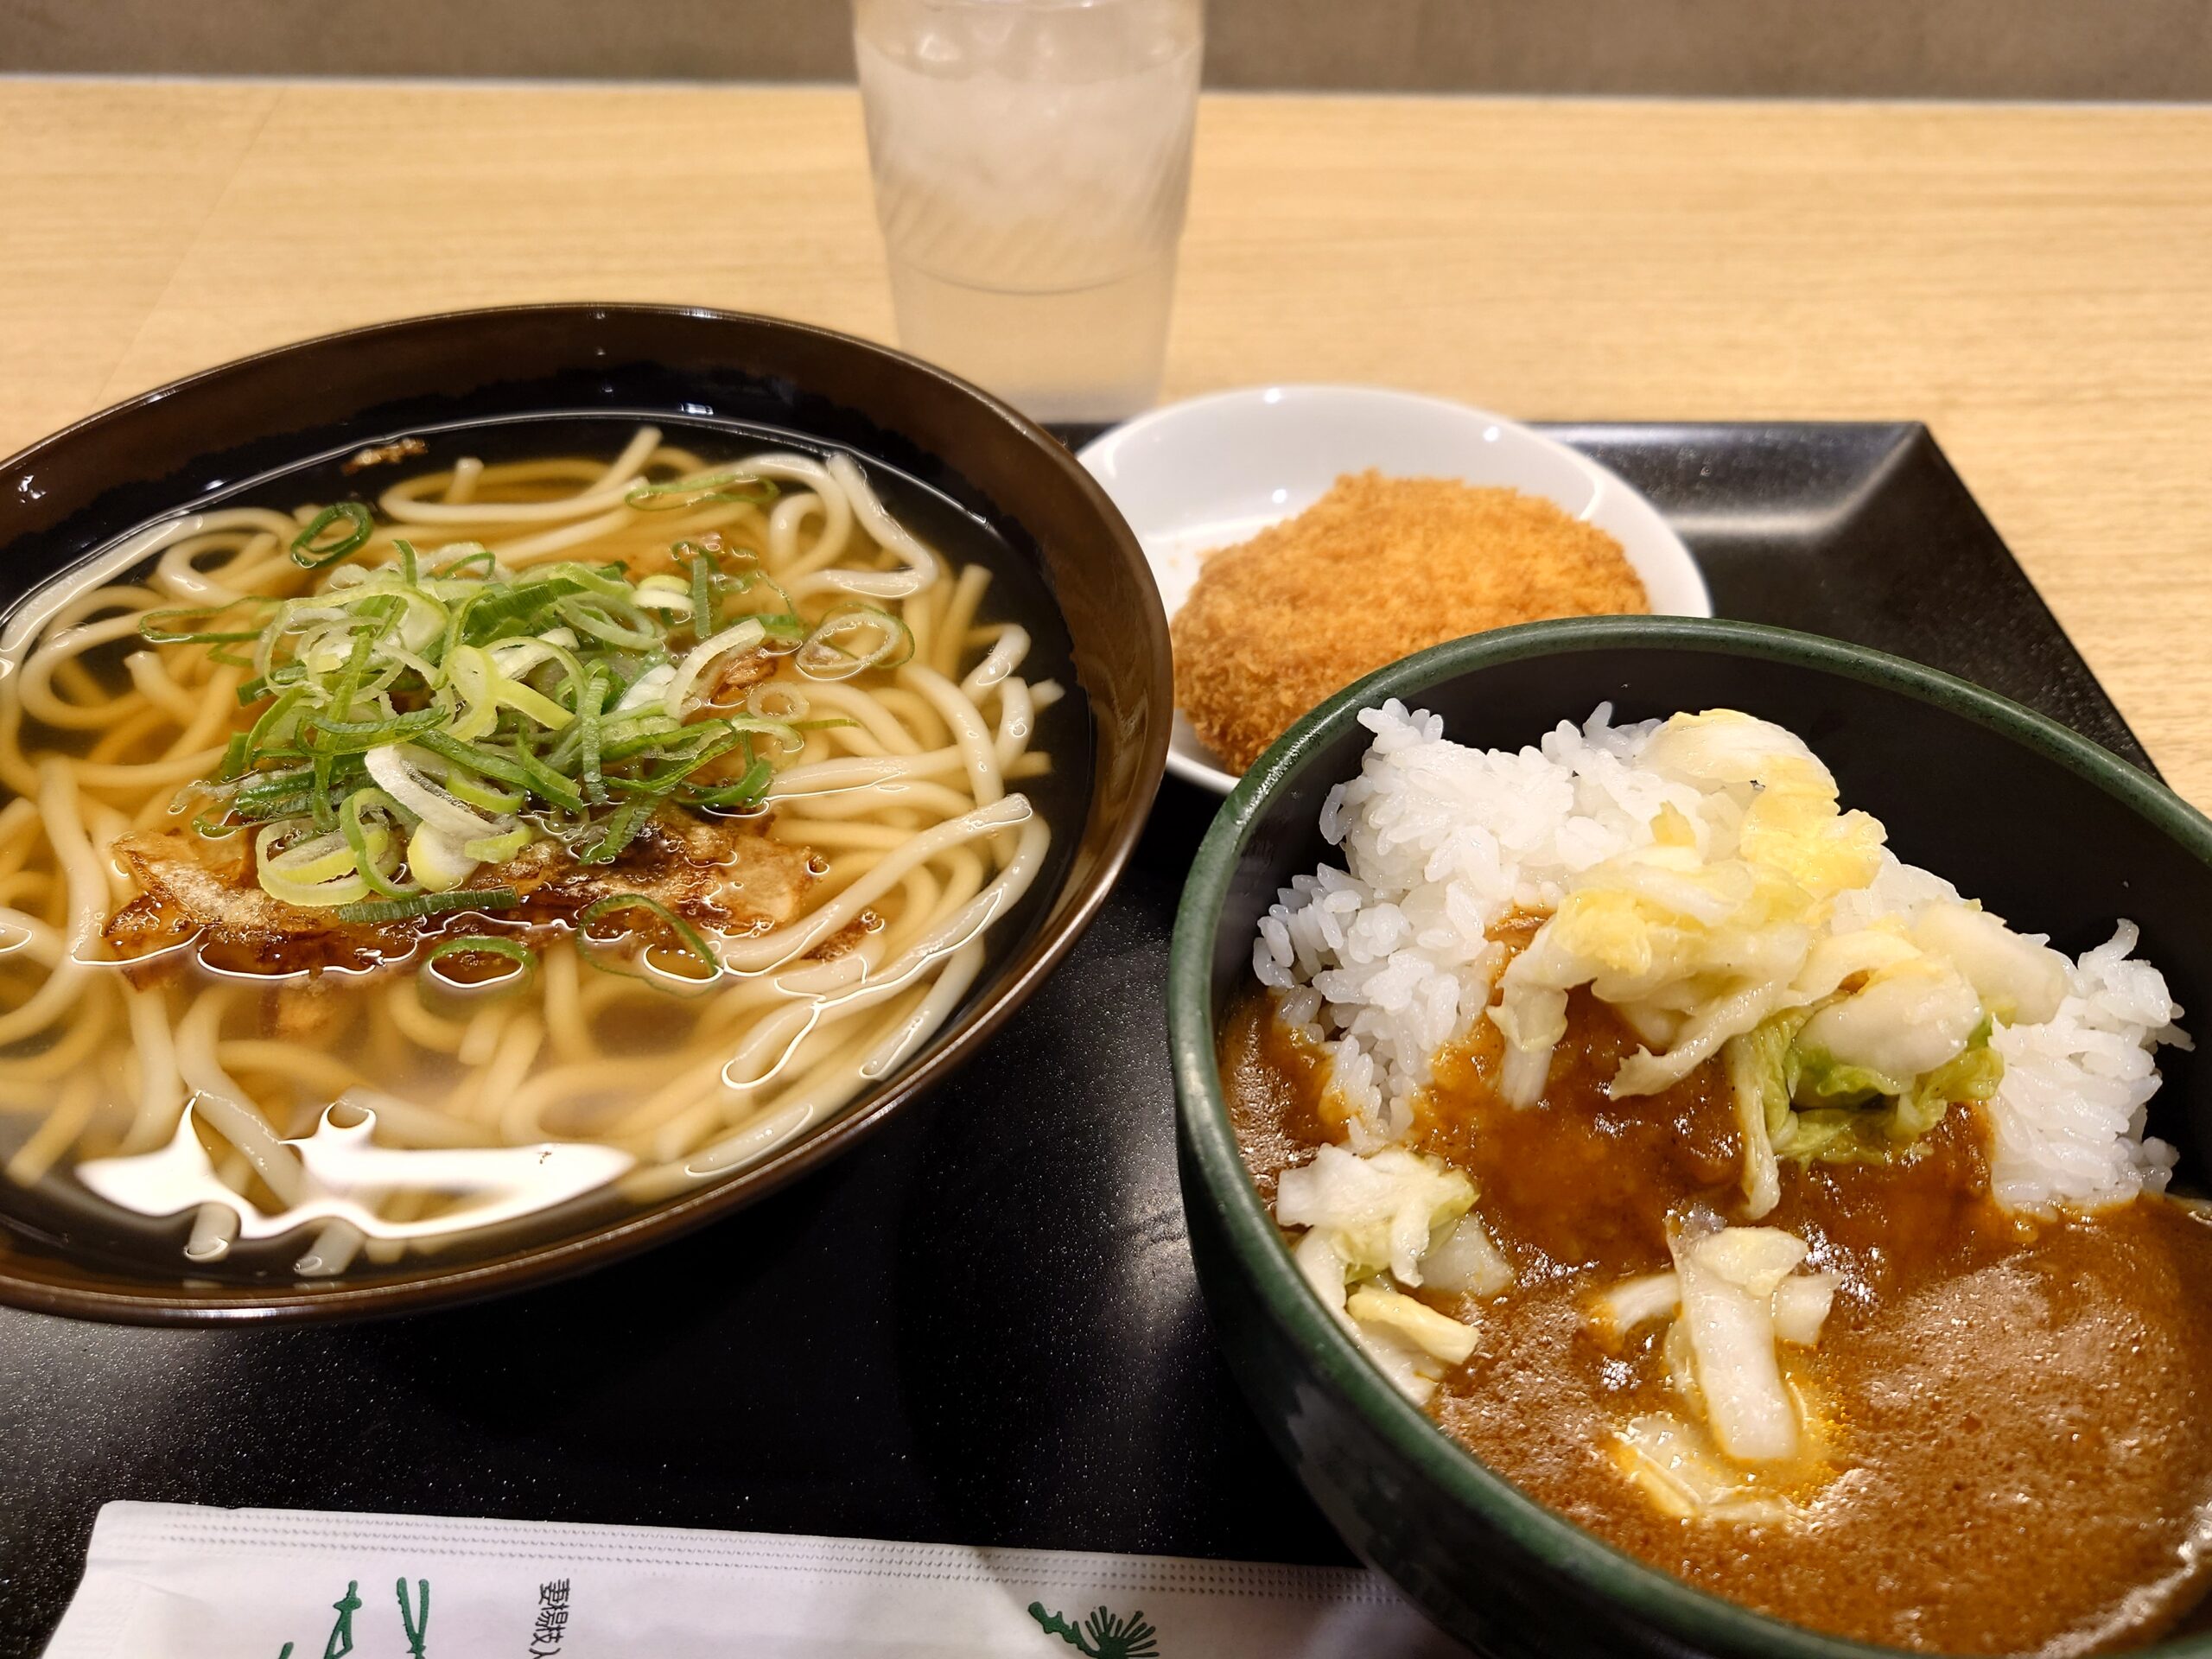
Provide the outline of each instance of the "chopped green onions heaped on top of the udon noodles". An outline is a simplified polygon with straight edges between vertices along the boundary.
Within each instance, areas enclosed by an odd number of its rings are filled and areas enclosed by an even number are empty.
[[[681,504],[732,482],[639,491]],[[334,564],[374,535],[369,509],[341,502],[301,529],[294,557]],[[807,664],[852,672],[900,657],[911,637],[889,611],[854,602],[812,619],[763,575],[759,555],[719,538],[677,542],[672,557],[672,571],[646,577],[582,560],[515,573],[473,542],[440,549],[434,564],[394,538],[389,562],[332,571],[290,599],[142,615],[146,639],[210,657],[237,644],[248,668],[237,688],[248,728],[179,794],[177,812],[212,796],[219,805],[195,821],[204,834],[254,827],[274,860],[263,872],[270,891],[288,902],[403,920],[498,907],[504,889],[453,883],[546,834],[588,865],[611,865],[664,803],[759,810],[805,732],[849,721],[701,710],[690,684],[670,712],[684,664],[690,681],[710,684],[723,655],[805,646]],[[257,617],[263,626],[246,630]],[[792,681],[779,684],[803,717]],[[476,825],[467,836],[458,818],[440,821],[445,841],[429,847],[418,814],[380,787],[389,779],[372,776],[369,759],[403,743],[418,750],[409,768],[429,768],[425,790],[442,783],[429,794]]]

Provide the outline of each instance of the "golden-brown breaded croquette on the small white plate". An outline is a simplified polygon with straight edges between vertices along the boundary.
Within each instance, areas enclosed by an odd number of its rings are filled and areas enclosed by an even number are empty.
[[[1646,613],[1604,531],[1517,489],[1347,473],[1206,557],[1175,613],[1175,703],[1230,770],[1360,675],[1460,635]]]

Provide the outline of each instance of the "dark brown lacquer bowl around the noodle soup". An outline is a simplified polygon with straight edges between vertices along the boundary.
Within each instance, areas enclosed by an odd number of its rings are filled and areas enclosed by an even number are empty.
[[[728,1212],[852,1146],[942,1082],[1053,971],[1144,827],[1168,745],[1168,626],[1113,502],[1042,427],[940,369],[765,316],[650,305],[449,312],[241,358],[91,416],[0,462],[0,608],[153,518],[407,434],[653,420],[852,449],[938,513],[975,520],[1057,613],[1037,630],[1073,675],[1044,787],[1055,852],[967,1000],[907,1066],[774,1157],[650,1206],[602,1206],[513,1248],[336,1281],[188,1279],[181,1256],[106,1248],[88,1225],[0,1199],[0,1301],[142,1323],[414,1312],[611,1261]],[[1062,708],[1051,710],[1062,719]],[[1088,730],[1084,730],[1088,728]],[[1040,728],[1042,730],[1042,728]],[[1082,757],[1088,754],[1088,765]],[[1042,796],[1040,796],[1042,799]],[[175,1261],[175,1267],[170,1267]]]

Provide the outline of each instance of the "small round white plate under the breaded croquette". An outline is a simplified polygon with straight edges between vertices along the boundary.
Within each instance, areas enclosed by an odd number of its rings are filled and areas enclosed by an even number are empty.
[[[1610,533],[1661,615],[1710,617],[1690,549],[1659,511],[1588,456],[1504,416],[1411,392],[1274,385],[1152,409],[1088,442],[1077,460],[1137,531],[1172,617],[1199,557],[1303,513],[1340,473],[1509,484]],[[1181,710],[1168,770],[1228,794],[1237,776]]]

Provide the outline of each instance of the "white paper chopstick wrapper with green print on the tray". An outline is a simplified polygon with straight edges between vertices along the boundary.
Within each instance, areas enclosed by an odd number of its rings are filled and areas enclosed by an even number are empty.
[[[46,1659],[1447,1659],[1380,1577],[783,1533],[108,1504]]]

